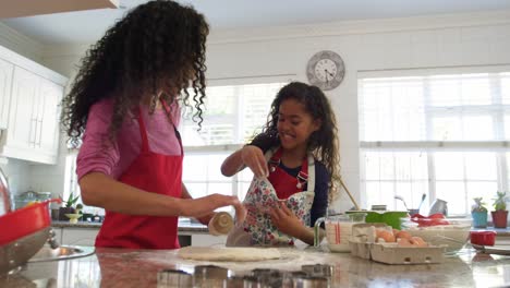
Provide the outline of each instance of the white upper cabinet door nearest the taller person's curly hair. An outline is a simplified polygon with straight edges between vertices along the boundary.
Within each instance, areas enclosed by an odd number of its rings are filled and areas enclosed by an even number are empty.
[[[59,104],[62,93],[62,86],[41,79],[35,144],[40,153],[54,158],[59,149]]]

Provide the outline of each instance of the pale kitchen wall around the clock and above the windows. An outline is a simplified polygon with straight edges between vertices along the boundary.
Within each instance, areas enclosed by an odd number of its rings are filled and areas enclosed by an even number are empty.
[[[70,76],[88,46],[45,47],[42,64]],[[305,82],[307,60],[325,49],[337,51],[347,67],[343,83],[327,95],[339,125],[342,177],[351,192],[363,202],[360,196],[357,72],[509,64],[510,11],[212,32],[208,43],[208,76],[291,74]],[[62,168],[51,170],[57,176]],[[47,167],[32,167],[34,181],[44,178],[52,182],[54,190],[61,189],[62,179],[46,178],[46,173]],[[335,204],[338,211],[351,206],[344,193]]]

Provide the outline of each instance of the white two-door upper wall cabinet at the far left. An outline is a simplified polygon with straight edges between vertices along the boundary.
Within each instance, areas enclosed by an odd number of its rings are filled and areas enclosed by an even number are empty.
[[[63,87],[14,67],[5,157],[54,164],[59,148],[59,104]]]

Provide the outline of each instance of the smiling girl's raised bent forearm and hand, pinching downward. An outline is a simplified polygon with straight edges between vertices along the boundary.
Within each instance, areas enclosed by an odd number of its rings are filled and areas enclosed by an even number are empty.
[[[269,175],[263,151],[254,145],[246,145],[227,157],[221,165],[221,173],[230,177],[246,166],[250,167],[255,177],[267,177]]]

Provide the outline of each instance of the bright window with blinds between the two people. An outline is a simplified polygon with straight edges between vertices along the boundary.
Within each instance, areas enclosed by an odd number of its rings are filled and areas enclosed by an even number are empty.
[[[185,145],[182,179],[193,197],[220,193],[244,199],[253,173],[245,169],[224,177],[221,164],[262,131],[276,94],[286,84],[209,85],[202,130],[189,118],[180,129]]]

